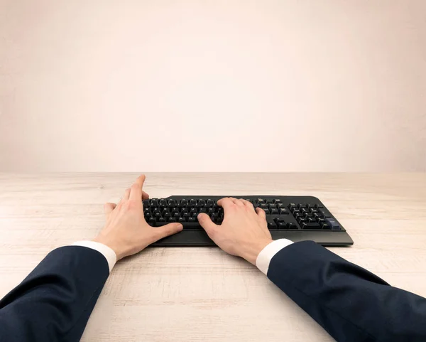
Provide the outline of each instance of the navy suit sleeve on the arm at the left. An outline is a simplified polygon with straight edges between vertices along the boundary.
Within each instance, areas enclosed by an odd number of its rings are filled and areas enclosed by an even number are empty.
[[[80,341],[108,276],[108,262],[96,250],[53,250],[1,299],[0,341]]]

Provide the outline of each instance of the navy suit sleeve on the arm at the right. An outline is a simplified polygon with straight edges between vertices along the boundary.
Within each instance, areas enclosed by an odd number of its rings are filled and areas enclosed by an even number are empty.
[[[312,241],[271,260],[268,278],[337,341],[425,342],[426,299]]]

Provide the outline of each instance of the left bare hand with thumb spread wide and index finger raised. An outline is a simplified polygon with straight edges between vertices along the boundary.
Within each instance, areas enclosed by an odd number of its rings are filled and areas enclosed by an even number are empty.
[[[149,196],[142,190],[144,181],[144,175],[136,179],[131,188],[124,191],[118,205],[104,205],[107,223],[94,241],[114,250],[117,260],[141,252],[151,243],[178,233],[183,228],[180,223],[169,223],[157,228],[146,223],[142,200]]]

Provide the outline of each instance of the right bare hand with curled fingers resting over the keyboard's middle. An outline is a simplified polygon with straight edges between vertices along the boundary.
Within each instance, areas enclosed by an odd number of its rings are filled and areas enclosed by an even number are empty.
[[[253,204],[243,199],[222,198],[217,204],[224,208],[222,225],[215,225],[205,213],[198,215],[200,225],[222,250],[256,264],[258,254],[272,242],[265,212],[254,210]]]

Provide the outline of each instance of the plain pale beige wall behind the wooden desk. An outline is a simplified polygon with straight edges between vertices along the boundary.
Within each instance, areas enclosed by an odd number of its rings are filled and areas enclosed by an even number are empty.
[[[426,1],[0,0],[0,169],[426,171]]]

